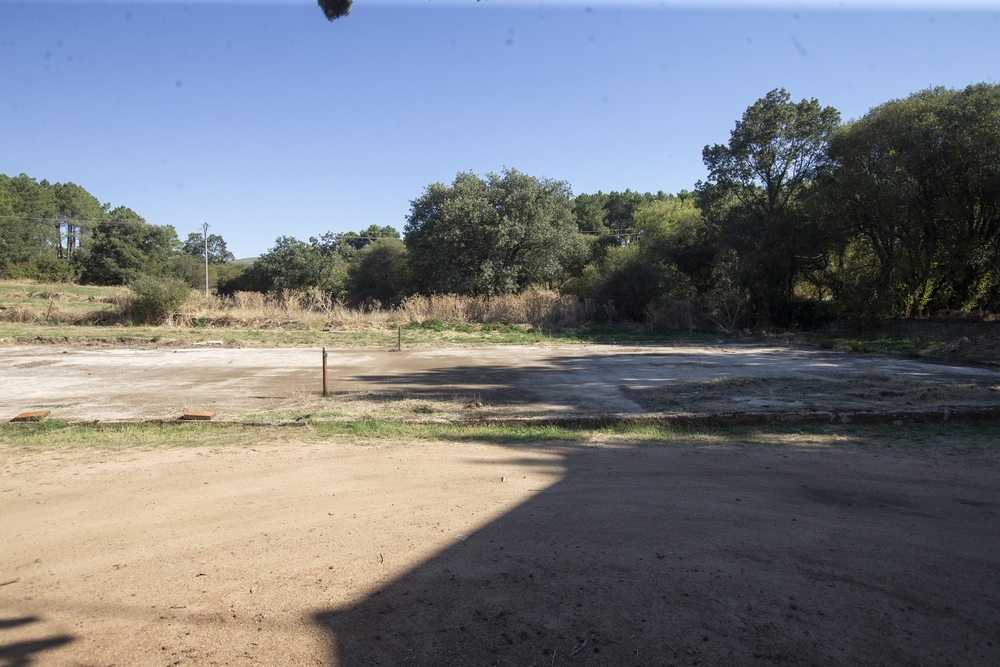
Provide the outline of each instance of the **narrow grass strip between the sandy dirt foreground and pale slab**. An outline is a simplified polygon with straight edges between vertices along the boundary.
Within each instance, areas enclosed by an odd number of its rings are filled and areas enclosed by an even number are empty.
[[[602,427],[576,425],[464,426],[387,420],[306,422],[299,428],[240,424],[73,425],[58,420],[7,425],[0,450],[7,454],[69,450],[121,451],[260,444],[361,445],[444,441],[527,447],[554,443],[586,446],[776,447],[797,451],[886,452],[919,458],[995,459],[1000,426],[989,422],[837,425],[805,428],[686,428],[649,422]]]

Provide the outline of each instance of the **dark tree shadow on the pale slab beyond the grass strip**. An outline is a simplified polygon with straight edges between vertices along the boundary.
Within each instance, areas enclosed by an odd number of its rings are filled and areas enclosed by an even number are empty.
[[[778,348],[552,355],[517,366],[443,366],[418,356],[381,370],[337,378],[337,393],[584,414],[913,410],[1000,400],[994,371]]]

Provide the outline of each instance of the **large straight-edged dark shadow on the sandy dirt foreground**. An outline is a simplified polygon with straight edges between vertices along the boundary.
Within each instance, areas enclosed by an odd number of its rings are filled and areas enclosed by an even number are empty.
[[[316,614],[331,664],[1000,664],[995,477],[776,449],[567,447],[563,464]]]

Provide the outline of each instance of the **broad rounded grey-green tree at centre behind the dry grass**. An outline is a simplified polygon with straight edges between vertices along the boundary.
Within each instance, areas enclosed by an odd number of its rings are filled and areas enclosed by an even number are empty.
[[[428,186],[405,238],[418,289],[495,296],[556,280],[577,236],[565,182],[504,169]]]

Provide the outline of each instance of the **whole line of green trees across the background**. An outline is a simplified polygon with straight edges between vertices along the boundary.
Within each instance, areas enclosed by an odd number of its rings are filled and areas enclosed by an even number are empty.
[[[649,320],[686,304],[726,329],[1000,312],[1000,86],[928,89],[847,122],[773,90],[702,158],[707,178],[677,194],[574,196],[515,169],[462,172],[411,202],[402,234],[282,236],[251,265],[219,264],[218,289],[316,290],[372,306],[555,289],[605,317]],[[73,184],[4,179],[0,215],[15,201],[35,207],[21,218],[56,222],[24,224],[20,236],[5,227],[0,243],[22,252],[0,245],[0,271],[41,266],[48,253],[81,280],[119,283],[136,266],[128,252],[173,275],[183,270],[171,257],[202,254]]]

